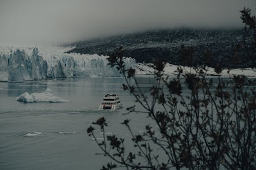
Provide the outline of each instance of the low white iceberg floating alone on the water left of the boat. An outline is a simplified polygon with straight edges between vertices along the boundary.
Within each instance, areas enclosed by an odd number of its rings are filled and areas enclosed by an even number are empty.
[[[46,89],[46,91],[42,93],[31,93],[28,92],[23,93],[22,95],[18,96],[16,99],[18,102],[24,102],[24,103],[33,103],[33,102],[50,102],[50,103],[56,103],[56,102],[69,102],[67,100],[58,98],[52,94],[52,91],[50,89]]]

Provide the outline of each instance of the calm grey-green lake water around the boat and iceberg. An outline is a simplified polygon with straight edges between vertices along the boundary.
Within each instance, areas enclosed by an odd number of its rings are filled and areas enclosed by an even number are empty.
[[[143,87],[153,78],[140,78]],[[129,139],[127,129],[120,125],[132,120],[136,133],[144,130],[150,120],[143,114],[128,114],[134,105],[129,91],[123,91],[123,78],[70,78],[29,82],[0,82],[0,169],[99,169],[109,160],[100,153],[87,128],[104,116],[109,133]],[[69,103],[20,103],[15,98],[24,92],[42,92]],[[99,111],[103,95],[119,94],[124,108]],[[102,137],[99,129],[97,137]]]

